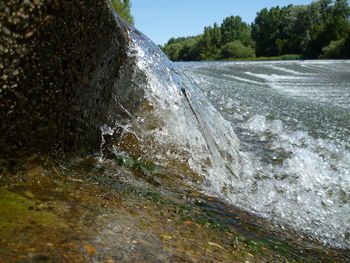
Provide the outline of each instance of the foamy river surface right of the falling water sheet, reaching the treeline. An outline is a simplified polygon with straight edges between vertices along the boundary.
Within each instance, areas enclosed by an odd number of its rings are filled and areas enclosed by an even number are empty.
[[[178,66],[240,140],[242,170],[224,198],[325,245],[349,248],[350,61]]]

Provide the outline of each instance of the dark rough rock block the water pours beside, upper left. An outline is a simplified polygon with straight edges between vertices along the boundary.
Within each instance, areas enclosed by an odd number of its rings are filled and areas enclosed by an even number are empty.
[[[0,24],[0,157],[97,150],[132,63],[108,0],[0,1]]]

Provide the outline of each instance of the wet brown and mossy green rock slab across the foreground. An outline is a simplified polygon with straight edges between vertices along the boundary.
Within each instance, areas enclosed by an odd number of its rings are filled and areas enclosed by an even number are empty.
[[[348,262],[206,197],[148,183],[138,167],[86,158],[3,165],[0,262]],[[303,245],[300,245],[303,243]]]

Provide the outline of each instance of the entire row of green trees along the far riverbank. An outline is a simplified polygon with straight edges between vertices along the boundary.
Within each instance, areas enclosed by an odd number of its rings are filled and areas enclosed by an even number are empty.
[[[230,16],[201,35],[171,38],[162,50],[173,61],[283,56],[350,58],[350,8],[346,0],[264,8],[248,25]],[[293,55],[291,55],[293,54]]]

